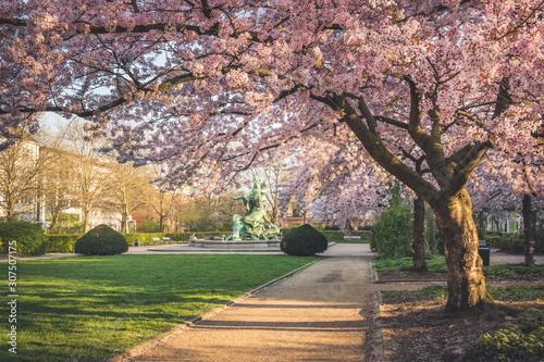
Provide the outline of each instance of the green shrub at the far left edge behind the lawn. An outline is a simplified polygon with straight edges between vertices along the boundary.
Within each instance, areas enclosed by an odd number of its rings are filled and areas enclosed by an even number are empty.
[[[47,250],[47,235],[40,224],[25,221],[0,222],[2,253],[7,253],[10,241],[16,241],[17,254],[41,255]],[[11,245],[15,247],[14,245]]]

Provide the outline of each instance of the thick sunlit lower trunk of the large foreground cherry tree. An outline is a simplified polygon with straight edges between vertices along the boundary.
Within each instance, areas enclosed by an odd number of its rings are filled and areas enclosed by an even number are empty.
[[[483,262],[478,253],[478,230],[472,219],[469,194],[463,188],[431,207],[436,215],[446,254],[446,311],[466,311],[483,302],[493,302],[482,274]]]

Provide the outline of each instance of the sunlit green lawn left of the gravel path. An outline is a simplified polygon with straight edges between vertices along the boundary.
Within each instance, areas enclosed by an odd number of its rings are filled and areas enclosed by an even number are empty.
[[[17,263],[17,354],[0,307],[0,361],[104,361],[317,258],[115,255]],[[2,290],[8,290],[8,264]],[[9,292],[5,291],[4,296]]]

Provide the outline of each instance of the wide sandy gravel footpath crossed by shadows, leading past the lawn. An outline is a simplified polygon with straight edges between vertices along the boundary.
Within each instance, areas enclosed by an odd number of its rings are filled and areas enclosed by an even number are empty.
[[[375,313],[368,245],[311,266],[124,361],[363,361]]]

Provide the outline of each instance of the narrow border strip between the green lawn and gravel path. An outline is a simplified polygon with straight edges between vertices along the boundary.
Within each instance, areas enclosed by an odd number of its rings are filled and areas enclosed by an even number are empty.
[[[255,289],[246,292],[245,295],[242,295],[242,296],[239,296],[239,297],[237,297],[237,298],[228,301],[224,305],[215,308],[214,310],[212,310],[212,311],[210,311],[210,312],[208,312],[208,313],[206,313],[203,315],[194,317],[194,319],[191,319],[191,320],[189,320],[189,321],[187,321],[185,323],[181,323],[181,324],[174,326],[172,329],[166,330],[166,332],[160,334],[159,336],[157,336],[154,338],[146,340],[146,341],[144,341],[144,342],[141,342],[141,344],[139,344],[139,345],[131,348],[129,350],[127,350],[127,351],[125,351],[125,352],[123,352],[121,354],[114,355],[114,357],[110,358],[107,361],[108,362],[121,362],[121,361],[123,361],[124,359],[126,359],[126,358],[128,358],[131,355],[137,354],[140,351],[145,350],[146,348],[150,347],[151,345],[158,344],[159,341],[161,341],[161,340],[163,340],[163,339],[165,339],[165,338],[168,338],[168,337],[170,337],[170,336],[172,336],[174,334],[184,332],[185,329],[188,329],[193,325],[198,324],[198,322],[207,320],[210,316],[218,314],[222,310],[224,310],[224,309],[226,309],[226,308],[228,308],[231,305],[236,304],[237,302],[239,302],[239,301],[242,301],[242,300],[244,300],[244,299],[252,296],[254,294],[257,294],[257,292],[259,292],[260,290],[262,290],[264,288],[268,288],[268,287],[270,287],[270,286],[272,286],[272,285],[274,285],[274,284],[276,284],[279,282],[282,282],[283,279],[288,278],[293,274],[296,274],[296,273],[298,273],[298,272],[300,272],[300,271],[302,271],[302,270],[305,270],[307,267],[310,267],[311,265],[313,265],[317,262],[319,262],[321,259],[322,258],[320,257],[319,259],[317,259],[317,260],[314,260],[312,262],[309,262],[308,264],[305,264],[305,265],[302,265],[302,266],[300,266],[300,267],[298,267],[298,269],[296,269],[296,270],[294,270],[294,271],[292,271],[292,272],[289,272],[287,274],[284,274],[284,275],[277,277],[277,278],[275,278],[273,280],[270,280],[270,282],[268,282],[268,283],[265,283],[265,284],[263,284],[263,285],[261,285],[261,286],[259,286],[259,287],[257,287],[257,288],[255,288]]]

